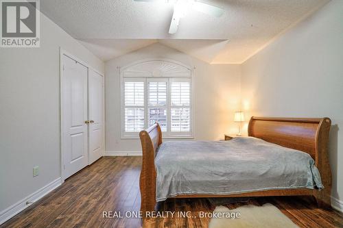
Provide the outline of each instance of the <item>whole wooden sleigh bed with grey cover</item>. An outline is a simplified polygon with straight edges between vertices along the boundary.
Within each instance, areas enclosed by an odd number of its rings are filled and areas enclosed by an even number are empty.
[[[330,205],[329,118],[252,117],[230,141],[162,142],[156,123],[141,131],[141,211],[167,198],[314,196]],[[198,178],[202,177],[202,178]]]

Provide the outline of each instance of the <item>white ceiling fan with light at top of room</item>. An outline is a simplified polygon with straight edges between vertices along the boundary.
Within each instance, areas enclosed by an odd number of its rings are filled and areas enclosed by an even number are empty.
[[[161,1],[161,0],[134,0],[134,1]],[[167,0],[167,2],[174,2],[174,13],[171,18],[171,23],[169,27],[169,34],[175,34],[178,30],[178,25],[180,23],[180,18],[187,15],[189,10],[196,10],[204,14],[209,14],[211,16],[220,17],[224,13],[224,9],[219,8],[214,5],[209,5],[208,3],[203,3],[197,0]]]

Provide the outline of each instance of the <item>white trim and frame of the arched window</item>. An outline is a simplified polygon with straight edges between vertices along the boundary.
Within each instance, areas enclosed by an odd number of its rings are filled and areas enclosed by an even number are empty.
[[[173,64],[173,65],[178,65],[181,66],[182,68],[187,68],[187,70],[189,70],[189,75],[185,75],[185,74],[180,74],[178,76],[167,76],[167,75],[159,75],[159,76],[154,76],[154,75],[142,75],[141,73],[137,73],[137,75],[129,75],[129,76],[125,76],[124,77],[124,73],[126,70],[130,69],[132,66],[136,66],[138,64],[144,64],[144,63],[148,63],[148,62],[163,62],[165,64]],[[149,59],[149,60],[144,60],[144,61],[139,61],[139,62],[134,62],[133,64],[129,64],[128,66],[124,66],[123,68],[119,68],[119,74],[120,74],[120,93],[121,93],[121,103],[120,103],[120,112],[121,112],[121,118],[120,118],[120,138],[121,139],[139,139],[139,132],[128,132],[125,131],[125,101],[124,101],[124,79],[138,79],[141,78],[142,80],[144,80],[144,110],[145,110],[145,115],[144,115],[144,123],[145,126],[148,126],[148,103],[147,103],[147,95],[148,95],[148,91],[147,91],[147,82],[150,81],[151,79],[155,79],[156,81],[158,79],[167,79],[169,82],[167,83],[167,97],[169,97],[170,99],[170,82],[174,79],[176,80],[182,80],[182,78],[187,78],[190,80],[190,105],[189,105],[189,109],[190,109],[190,114],[191,114],[191,126],[190,126],[190,131],[187,132],[177,132],[177,134],[172,134],[169,135],[167,134],[167,132],[163,132],[162,136],[165,139],[193,139],[194,138],[194,123],[195,123],[195,116],[194,116],[194,110],[195,110],[195,99],[194,99],[194,69],[195,68],[191,68],[189,66],[186,66],[185,64],[182,64],[180,62],[176,62],[174,60],[167,60],[167,59]],[[170,80],[171,79],[171,80]],[[169,105],[170,101],[167,101],[167,115],[169,114],[170,110],[168,111],[168,108],[170,109],[171,105]],[[169,114],[170,115],[170,114]],[[169,131],[170,131],[170,121],[168,120],[169,118],[167,118],[167,127],[169,127]]]

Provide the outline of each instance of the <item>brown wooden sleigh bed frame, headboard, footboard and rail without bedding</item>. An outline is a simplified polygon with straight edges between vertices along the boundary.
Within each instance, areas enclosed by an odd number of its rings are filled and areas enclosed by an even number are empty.
[[[324,189],[291,189],[263,190],[230,195],[187,194],[174,198],[203,198],[203,197],[270,197],[270,196],[314,196],[320,207],[331,205],[331,168],[327,144],[331,120],[329,118],[269,118],[255,117],[250,119],[248,136],[261,138],[267,142],[283,147],[303,151],[311,155],[320,172]],[[156,168],[154,159],[158,147],[162,144],[161,127],[155,123],[139,134],[143,151],[141,176],[141,211],[151,212],[156,205]]]

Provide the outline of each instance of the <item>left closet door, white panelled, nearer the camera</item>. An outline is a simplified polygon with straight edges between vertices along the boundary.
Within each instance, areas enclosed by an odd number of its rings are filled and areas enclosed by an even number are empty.
[[[62,61],[62,153],[66,179],[88,164],[88,68],[66,55]]]

